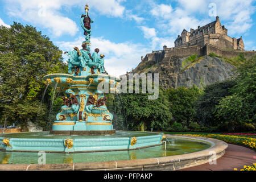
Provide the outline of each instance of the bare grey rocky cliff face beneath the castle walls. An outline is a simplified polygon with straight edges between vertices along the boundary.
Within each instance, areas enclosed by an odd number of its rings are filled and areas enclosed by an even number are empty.
[[[159,84],[163,88],[177,86],[199,87],[223,81],[233,75],[236,67],[219,57],[184,57],[159,55],[145,57],[133,73],[159,73]]]

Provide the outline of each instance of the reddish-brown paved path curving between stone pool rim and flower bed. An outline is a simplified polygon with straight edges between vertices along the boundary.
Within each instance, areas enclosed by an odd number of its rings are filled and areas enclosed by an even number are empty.
[[[217,159],[216,162],[216,165],[207,163],[181,169],[180,171],[234,171],[234,168],[240,170],[243,166],[256,163],[256,152],[246,147],[237,146],[236,144],[228,144],[224,156]]]

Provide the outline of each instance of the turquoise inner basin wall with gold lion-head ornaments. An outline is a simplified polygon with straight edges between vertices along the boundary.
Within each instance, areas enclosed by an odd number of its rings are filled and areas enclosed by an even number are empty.
[[[54,126],[54,125],[53,125]],[[93,127],[94,125],[92,125]],[[85,131],[81,131],[85,132]],[[89,132],[89,131],[88,131]],[[106,132],[105,130],[102,132]],[[49,133],[42,135],[42,138],[34,138],[28,135],[26,138],[16,138],[6,134],[0,137],[0,149],[6,151],[46,151],[46,152],[94,152],[94,151],[115,151],[135,150],[142,147],[151,147],[161,144],[163,134],[150,134],[139,137],[47,137]],[[10,136],[10,137],[8,137]],[[8,138],[7,138],[8,137]]]

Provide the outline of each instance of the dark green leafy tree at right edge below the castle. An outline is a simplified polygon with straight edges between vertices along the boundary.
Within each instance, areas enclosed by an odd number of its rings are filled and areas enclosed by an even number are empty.
[[[218,120],[228,123],[231,131],[236,125],[254,123],[256,120],[256,56],[238,67],[237,84],[230,90],[231,96],[222,98],[216,106]]]

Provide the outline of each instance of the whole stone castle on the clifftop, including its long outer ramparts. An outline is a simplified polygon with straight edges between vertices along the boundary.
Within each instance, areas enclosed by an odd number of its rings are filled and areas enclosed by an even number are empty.
[[[162,50],[147,53],[145,57],[141,57],[141,60],[157,63],[163,59],[170,59],[172,56],[183,58],[193,54],[205,56],[209,53],[230,58],[240,53],[243,53],[246,58],[255,55],[255,51],[245,51],[242,37],[236,39],[227,34],[228,29],[221,25],[220,18],[216,16],[214,22],[203,27],[198,26],[196,30],[191,28],[188,32],[184,29],[175,40],[175,47],[163,46]]]

